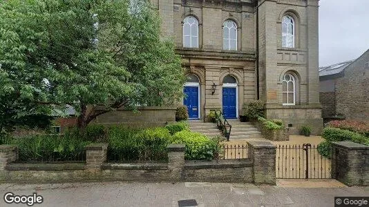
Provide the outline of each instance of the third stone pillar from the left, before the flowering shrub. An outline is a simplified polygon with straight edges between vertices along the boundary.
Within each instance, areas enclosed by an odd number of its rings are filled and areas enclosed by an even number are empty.
[[[169,175],[173,180],[180,180],[185,166],[185,144],[169,144],[167,150]]]

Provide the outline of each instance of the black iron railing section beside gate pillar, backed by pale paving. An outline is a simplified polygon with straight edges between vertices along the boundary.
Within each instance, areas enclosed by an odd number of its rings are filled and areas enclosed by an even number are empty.
[[[247,159],[249,158],[249,147],[247,145],[224,145],[220,146],[216,159]]]

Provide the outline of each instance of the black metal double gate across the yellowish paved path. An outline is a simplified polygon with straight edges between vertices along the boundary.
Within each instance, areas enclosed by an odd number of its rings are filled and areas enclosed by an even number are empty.
[[[319,155],[315,145],[279,145],[276,148],[276,178],[330,179],[330,159]]]

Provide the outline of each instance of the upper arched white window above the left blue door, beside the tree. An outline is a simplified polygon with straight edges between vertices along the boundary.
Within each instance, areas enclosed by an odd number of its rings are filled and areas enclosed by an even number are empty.
[[[198,48],[198,19],[193,16],[183,20],[183,47]]]

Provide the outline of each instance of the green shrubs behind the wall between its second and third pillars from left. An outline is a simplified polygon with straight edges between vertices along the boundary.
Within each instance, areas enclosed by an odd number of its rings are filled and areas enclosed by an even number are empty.
[[[167,159],[171,139],[166,128],[146,130],[122,126],[108,128],[108,159],[115,161],[149,161]]]

